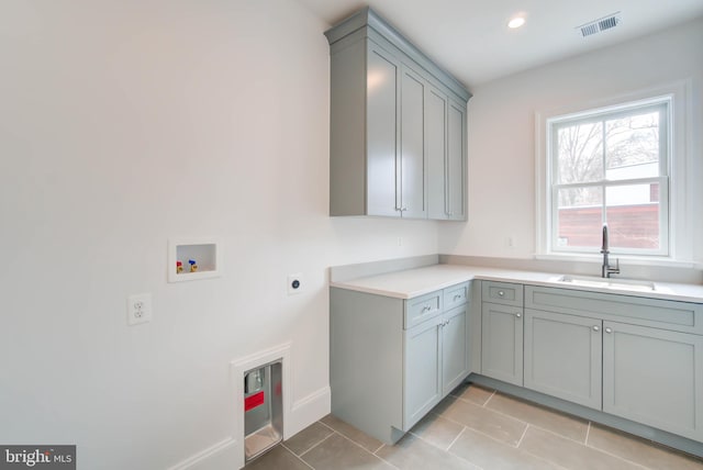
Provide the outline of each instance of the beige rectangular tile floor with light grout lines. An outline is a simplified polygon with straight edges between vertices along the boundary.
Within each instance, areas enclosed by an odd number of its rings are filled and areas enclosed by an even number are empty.
[[[246,469],[703,470],[703,459],[465,384],[394,446],[327,415]]]

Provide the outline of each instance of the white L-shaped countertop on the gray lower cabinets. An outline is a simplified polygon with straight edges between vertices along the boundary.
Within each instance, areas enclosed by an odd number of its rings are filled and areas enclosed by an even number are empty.
[[[636,286],[628,288],[626,284],[617,284],[615,288],[581,286],[558,280],[563,275],[559,273],[506,270],[478,266],[434,265],[347,281],[330,282],[330,286],[398,299],[412,299],[459,282],[481,279],[703,303],[703,286],[700,284],[678,284],[655,281],[654,290],[644,290],[638,289]],[[580,277],[573,276],[573,278],[579,279]],[[593,278],[593,280],[599,281],[598,278]],[[618,278],[614,277],[612,280],[617,282]]]

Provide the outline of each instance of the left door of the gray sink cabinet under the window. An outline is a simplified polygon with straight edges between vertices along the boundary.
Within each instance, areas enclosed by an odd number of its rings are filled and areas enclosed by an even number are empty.
[[[525,310],[525,387],[601,410],[602,321]]]

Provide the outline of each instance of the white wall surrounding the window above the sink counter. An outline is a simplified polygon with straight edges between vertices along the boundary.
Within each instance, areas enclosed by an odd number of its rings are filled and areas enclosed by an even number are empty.
[[[604,33],[607,34],[607,33]],[[473,88],[468,112],[469,223],[443,225],[439,253],[505,258],[535,254],[535,112],[589,105],[691,79],[692,147],[703,179],[703,21],[521,72]],[[703,261],[703,194],[690,198],[693,258]],[[507,238],[513,237],[514,246]],[[689,240],[691,244],[691,240]]]

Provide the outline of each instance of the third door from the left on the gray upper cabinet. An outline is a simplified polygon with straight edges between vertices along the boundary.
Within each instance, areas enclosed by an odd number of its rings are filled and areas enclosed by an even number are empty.
[[[427,216],[445,220],[447,209],[447,107],[445,93],[427,86],[425,141],[427,144]]]

